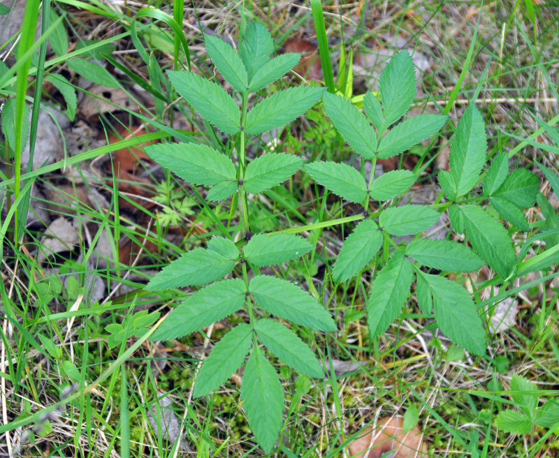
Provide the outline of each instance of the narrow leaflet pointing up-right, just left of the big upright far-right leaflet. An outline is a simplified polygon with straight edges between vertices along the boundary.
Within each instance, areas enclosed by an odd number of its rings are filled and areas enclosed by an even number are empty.
[[[421,140],[435,135],[446,122],[447,117],[444,114],[420,114],[404,119],[380,140],[379,158],[386,159],[407,151]]]

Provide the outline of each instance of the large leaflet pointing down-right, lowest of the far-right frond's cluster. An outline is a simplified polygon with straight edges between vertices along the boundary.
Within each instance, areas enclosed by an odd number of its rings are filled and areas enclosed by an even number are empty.
[[[474,250],[506,279],[516,263],[516,252],[507,230],[477,205],[456,208],[463,217],[465,232]]]

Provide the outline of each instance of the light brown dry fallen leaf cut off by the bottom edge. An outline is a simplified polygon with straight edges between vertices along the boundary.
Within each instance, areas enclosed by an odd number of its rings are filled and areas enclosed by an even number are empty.
[[[351,458],[380,458],[387,452],[391,458],[427,457],[427,446],[418,427],[404,433],[404,419],[395,417],[381,418],[373,430],[365,428],[359,438],[349,444]]]

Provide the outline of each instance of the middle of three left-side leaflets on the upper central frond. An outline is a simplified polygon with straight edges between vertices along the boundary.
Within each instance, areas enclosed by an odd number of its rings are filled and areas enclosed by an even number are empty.
[[[173,87],[220,131],[233,135],[240,131],[240,110],[226,91],[200,75],[188,71],[167,71]]]

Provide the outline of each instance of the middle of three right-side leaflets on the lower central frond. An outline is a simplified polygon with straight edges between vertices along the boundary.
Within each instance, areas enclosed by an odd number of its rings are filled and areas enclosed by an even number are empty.
[[[317,331],[335,331],[332,316],[314,297],[298,286],[275,276],[255,276],[249,292],[259,306],[279,318]]]

